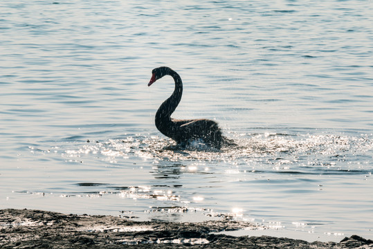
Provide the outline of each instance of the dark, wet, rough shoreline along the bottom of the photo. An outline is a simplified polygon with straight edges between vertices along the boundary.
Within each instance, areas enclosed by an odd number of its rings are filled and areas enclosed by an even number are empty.
[[[224,230],[255,229],[251,223],[129,221],[115,216],[0,210],[0,248],[373,248],[356,235],[339,243],[277,237],[232,237]]]

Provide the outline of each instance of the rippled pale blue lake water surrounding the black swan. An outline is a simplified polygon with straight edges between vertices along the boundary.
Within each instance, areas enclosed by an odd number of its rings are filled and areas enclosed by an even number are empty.
[[[372,1],[0,3],[0,208],[373,239]],[[238,147],[154,125],[216,119]],[[262,231],[264,234],[264,231]],[[293,234],[293,235],[291,235]],[[257,235],[257,234],[256,234]]]

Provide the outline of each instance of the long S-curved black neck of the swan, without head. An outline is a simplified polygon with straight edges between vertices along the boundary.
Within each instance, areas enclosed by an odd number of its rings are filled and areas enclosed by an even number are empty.
[[[172,128],[171,114],[175,111],[176,107],[179,105],[181,100],[181,95],[183,95],[183,82],[181,82],[181,77],[178,73],[170,69],[166,75],[170,75],[174,78],[175,89],[170,98],[167,98],[165,102],[161,104],[156,112],[156,127],[165,136],[170,132]]]

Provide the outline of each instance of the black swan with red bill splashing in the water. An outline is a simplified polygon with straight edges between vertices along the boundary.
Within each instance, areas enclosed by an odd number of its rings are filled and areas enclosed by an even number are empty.
[[[217,122],[208,119],[176,120],[171,118],[183,95],[183,82],[178,73],[167,66],[154,68],[152,78],[147,86],[151,86],[156,80],[165,75],[174,78],[175,89],[170,98],[161,104],[156,112],[156,128],[163,135],[172,138],[179,145],[188,144],[191,140],[202,139],[206,145],[220,149],[224,143],[231,144],[231,141],[221,135],[221,129]]]

